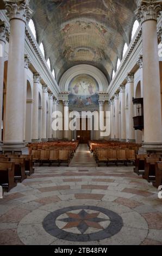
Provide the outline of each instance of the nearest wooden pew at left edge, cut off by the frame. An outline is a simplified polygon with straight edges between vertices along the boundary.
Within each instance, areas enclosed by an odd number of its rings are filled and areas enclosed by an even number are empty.
[[[0,162],[0,184],[10,191],[16,186],[15,183],[15,164],[11,162]]]

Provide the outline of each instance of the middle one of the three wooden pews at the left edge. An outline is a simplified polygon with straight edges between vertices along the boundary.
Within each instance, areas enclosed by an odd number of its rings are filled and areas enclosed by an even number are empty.
[[[13,157],[10,159],[11,162],[15,163],[15,181],[22,182],[24,179],[27,178],[25,172],[25,160]]]

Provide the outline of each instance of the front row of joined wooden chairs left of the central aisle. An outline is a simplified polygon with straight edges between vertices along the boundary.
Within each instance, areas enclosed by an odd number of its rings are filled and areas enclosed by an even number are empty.
[[[40,166],[43,163],[48,163],[49,166],[53,163],[57,163],[60,166],[61,163],[70,164],[70,150],[69,149],[51,149],[51,150],[32,150],[33,162],[39,162]]]

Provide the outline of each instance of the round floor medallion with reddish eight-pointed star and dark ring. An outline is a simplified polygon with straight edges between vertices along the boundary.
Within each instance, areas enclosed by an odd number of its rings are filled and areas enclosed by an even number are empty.
[[[97,206],[71,206],[52,212],[43,220],[47,233],[68,241],[97,241],[111,237],[123,227],[116,212]]]

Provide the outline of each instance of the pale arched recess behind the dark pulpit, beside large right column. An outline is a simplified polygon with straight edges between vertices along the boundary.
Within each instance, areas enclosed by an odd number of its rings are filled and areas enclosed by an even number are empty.
[[[135,98],[141,97],[141,82],[139,81],[136,87],[135,91]],[[135,105],[135,116],[141,115],[141,109],[139,109],[139,106]],[[136,130],[135,131],[135,141],[136,143],[142,143],[142,136],[144,131]]]

